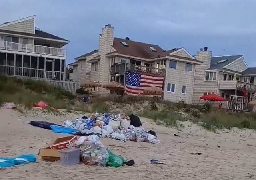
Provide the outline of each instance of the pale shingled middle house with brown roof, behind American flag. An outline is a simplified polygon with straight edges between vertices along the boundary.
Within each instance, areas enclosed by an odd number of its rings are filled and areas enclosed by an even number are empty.
[[[186,49],[164,50],[158,45],[114,37],[108,24],[99,35],[99,49],[75,58],[69,64],[70,79],[101,84],[117,81],[125,85],[126,71],[140,71],[164,77],[164,99],[192,103],[195,66],[200,64]],[[139,70],[138,70],[139,69]],[[182,77],[182,78],[181,78]],[[102,89],[94,89],[103,93]],[[97,92],[97,90],[99,90]]]

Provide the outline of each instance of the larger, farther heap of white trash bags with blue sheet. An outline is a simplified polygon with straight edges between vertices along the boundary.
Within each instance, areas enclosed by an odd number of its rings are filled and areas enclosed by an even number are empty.
[[[127,140],[137,142],[160,143],[156,133],[152,130],[146,131],[142,127],[140,118],[135,115],[124,114],[98,114],[90,117],[83,116],[74,121],[64,121],[62,127],[51,126],[56,133],[70,132],[80,136],[98,135],[104,138],[112,138],[125,142]],[[61,131],[61,130],[62,131]],[[75,132],[75,133],[74,133]]]

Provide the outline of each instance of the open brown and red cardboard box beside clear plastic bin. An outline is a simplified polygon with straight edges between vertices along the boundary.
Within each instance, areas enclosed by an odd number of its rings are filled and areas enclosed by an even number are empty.
[[[57,138],[48,147],[41,148],[38,152],[38,156],[41,156],[42,159],[48,160],[48,161],[60,160],[59,149],[52,149],[51,146],[54,146],[53,148],[67,147],[67,146],[73,145],[74,141],[76,141],[77,139],[78,139],[77,136]]]

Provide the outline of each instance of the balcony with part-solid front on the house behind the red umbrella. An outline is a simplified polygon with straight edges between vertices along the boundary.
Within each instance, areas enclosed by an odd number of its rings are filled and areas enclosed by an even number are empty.
[[[244,84],[246,84],[246,89],[248,92],[256,92],[256,85],[250,83],[244,83],[242,81],[220,81],[220,90],[235,90],[241,89]]]

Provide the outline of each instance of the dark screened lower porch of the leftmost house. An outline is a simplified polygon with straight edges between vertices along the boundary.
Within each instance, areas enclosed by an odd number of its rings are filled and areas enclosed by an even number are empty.
[[[64,81],[66,78],[65,60],[0,53],[0,73],[18,77]]]

